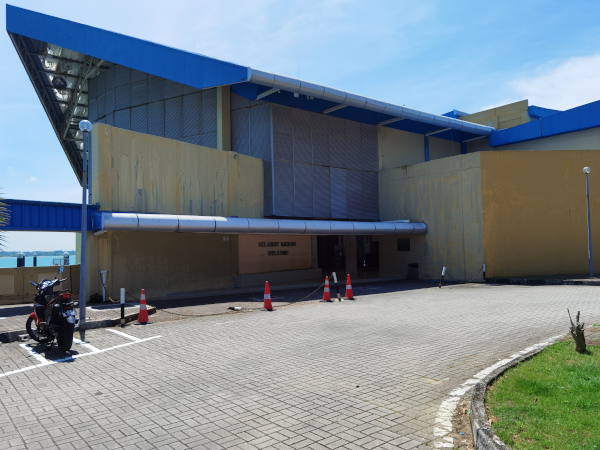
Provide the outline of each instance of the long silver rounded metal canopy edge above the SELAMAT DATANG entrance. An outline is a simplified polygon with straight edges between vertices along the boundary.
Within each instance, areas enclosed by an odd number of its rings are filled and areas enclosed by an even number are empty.
[[[424,234],[421,222],[346,222],[341,220],[255,219],[243,217],[187,216],[100,212],[98,231],[166,231],[223,234]]]

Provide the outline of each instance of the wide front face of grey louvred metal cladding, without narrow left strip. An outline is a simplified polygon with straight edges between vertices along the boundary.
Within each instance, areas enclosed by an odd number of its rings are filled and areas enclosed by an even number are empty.
[[[377,131],[274,105],[274,213],[378,219]]]

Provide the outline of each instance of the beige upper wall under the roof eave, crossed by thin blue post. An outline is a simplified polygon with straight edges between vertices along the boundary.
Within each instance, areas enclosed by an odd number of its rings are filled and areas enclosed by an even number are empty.
[[[377,127],[379,168],[408,166],[424,161],[422,134],[409,133],[389,127]],[[460,144],[434,136],[429,137],[429,158],[439,159],[460,154]]]

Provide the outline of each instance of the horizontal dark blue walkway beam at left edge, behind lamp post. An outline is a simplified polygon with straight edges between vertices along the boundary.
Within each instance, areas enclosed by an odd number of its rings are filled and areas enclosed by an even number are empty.
[[[70,231],[81,230],[81,205],[78,203],[2,200],[9,212],[8,225],[2,231]],[[93,217],[98,207],[88,205],[88,229],[97,230]]]

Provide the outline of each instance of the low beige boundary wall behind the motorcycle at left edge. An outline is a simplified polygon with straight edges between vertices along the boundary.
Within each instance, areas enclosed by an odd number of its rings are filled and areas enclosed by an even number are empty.
[[[67,278],[61,289],[79,291],[79,266],[65,266],[62,274],[58,267],[17,267],[0,269],[0,305],[9,303],[32,303],[35,289],[30,281],[43,279]]]

